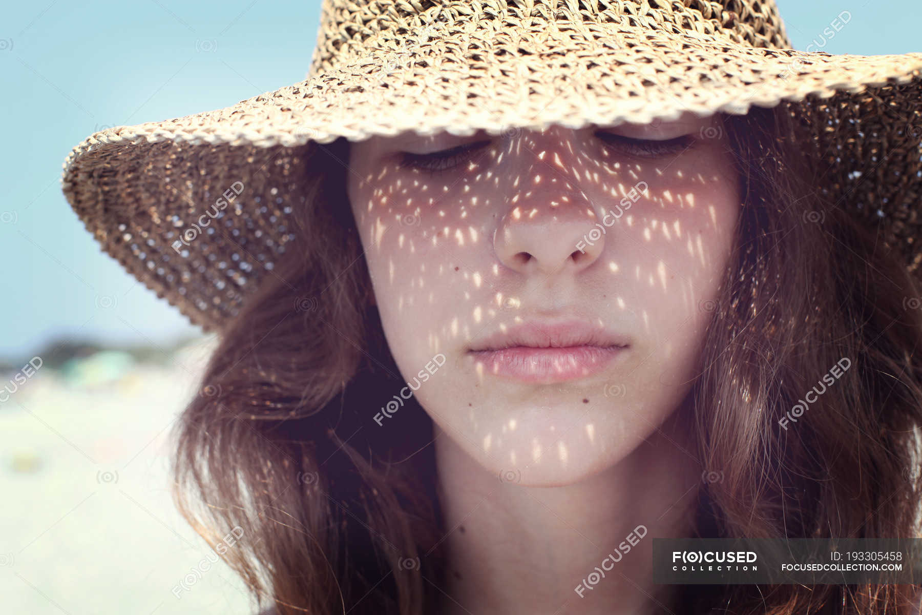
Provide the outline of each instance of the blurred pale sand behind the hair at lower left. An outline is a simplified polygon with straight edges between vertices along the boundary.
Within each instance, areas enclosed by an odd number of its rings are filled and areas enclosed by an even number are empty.
[[[45,361],[0,402],[0,613],[255,612],[223,562],[193,572],[215,556],[169,491],[167,438],[214,343]]]

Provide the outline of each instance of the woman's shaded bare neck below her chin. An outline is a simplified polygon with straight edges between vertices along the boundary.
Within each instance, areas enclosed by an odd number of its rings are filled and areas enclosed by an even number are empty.
[[[662,612],[670,586],[653,583],[652,539],[693,535],[701,484],[674,417],[614,467],[562,487],[502,483],[439,433],[440,612]]]

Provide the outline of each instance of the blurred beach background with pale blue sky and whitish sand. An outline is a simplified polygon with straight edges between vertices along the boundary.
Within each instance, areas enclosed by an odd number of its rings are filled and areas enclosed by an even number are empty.
[[[922,51],[916,2],[777,4],[797,49]],[[202,569],[214,545],[175,510],[167,473],[169,433],[216,339],[100,252],[66,204],[60,172],[97,130],[218,109],[300,81],[319,8],[319,0],[4,7],[0,613],[254,612],[227,566]],[[841,27],[825,34],[836,20]]]

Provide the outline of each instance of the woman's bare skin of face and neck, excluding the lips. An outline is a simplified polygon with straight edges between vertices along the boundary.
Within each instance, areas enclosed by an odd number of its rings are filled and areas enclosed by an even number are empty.
[[[475,143],[441,171],[401,154]],[[703,468],[680,417],[739,217],[733,160],[719,116],[691,114],[352,144],[349,203],[396,364],[413,382],[443,355],[413,394],[435,426],[451,530],[443,612],[638,613],[667,599],[643,541],[690,535]],[[563,315],[629,347],[552,384],[468,351]],[[580,597],[640,525],[637,548]]]

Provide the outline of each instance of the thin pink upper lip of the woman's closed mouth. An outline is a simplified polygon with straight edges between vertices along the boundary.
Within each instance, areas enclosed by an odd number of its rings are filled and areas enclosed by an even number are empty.
[[[541,321],[529,320],[497,331],[472,343],[471,351],[501,350],[515,347],[570,348],[597,346],[599,348],[629,346],[627,337],[609,329],[590,325],[583,320]]]

